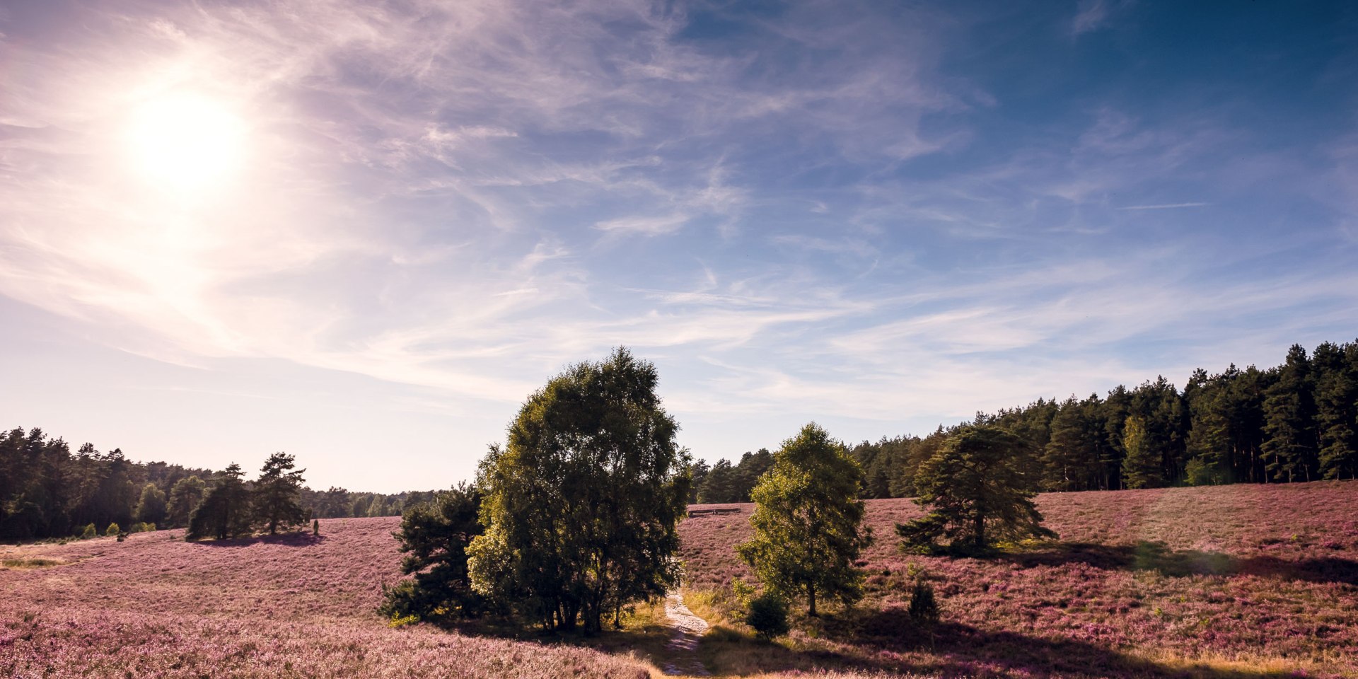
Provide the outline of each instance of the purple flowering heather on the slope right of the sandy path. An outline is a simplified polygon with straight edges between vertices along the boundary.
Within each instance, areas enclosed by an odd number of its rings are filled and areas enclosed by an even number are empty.
[[[752,505],[680,526],[686,584],[750,579]],[[944,676],[1358,676],[1358,482],[1039,496],[1058,543],[1005,557],[898,551],[910,500],[869,500],[858,610],[793,636],[788,668]],[[942,623],[906,614],[915,577]],[[807,660],[808,657],[813,660]]]

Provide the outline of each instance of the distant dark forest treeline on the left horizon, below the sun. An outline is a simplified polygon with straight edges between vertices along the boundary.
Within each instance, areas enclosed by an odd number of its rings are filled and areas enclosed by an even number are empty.
[[[225,471],[166,462],[133,462],[114,448],[90,443],[71,452],[62,439],[42,429],[0,433],[0,540],[65,538],[94,524],[185,527],[208,489]],[[253,482],[246,482],[253,489]],[[303,488],[308,517],[399,516],[433,498],[433,492],[354,493],[342,488]]]

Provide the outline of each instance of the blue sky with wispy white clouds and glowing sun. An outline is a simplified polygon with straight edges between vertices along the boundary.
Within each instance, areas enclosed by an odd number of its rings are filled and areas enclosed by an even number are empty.
[[[708,460],[1358,337],[1351,3],[0,3],[0,426],[445,488],[625,345]]]

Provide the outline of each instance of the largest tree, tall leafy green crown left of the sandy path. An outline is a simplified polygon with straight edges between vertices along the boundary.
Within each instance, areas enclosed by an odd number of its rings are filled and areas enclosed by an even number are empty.
[[[482,460],[486,532],[469,547],[478,592],[542,625],[598,631],[604,612],[679,579],[689,455],[653,364],[617,349],[528,397]]]

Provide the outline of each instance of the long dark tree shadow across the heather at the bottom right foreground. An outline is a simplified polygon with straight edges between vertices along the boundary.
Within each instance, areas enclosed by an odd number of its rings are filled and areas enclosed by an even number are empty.
[[[1294,672],[1167,665],[1078,640],[1051,640],[970,625],[917,625],[904,608],[856,611],[826,626],[826,637],[866,646],[862,669],[940,676],[1127,676],[1146,679],[1270,679]],[[911,656],[911,653],[928,653]]]

